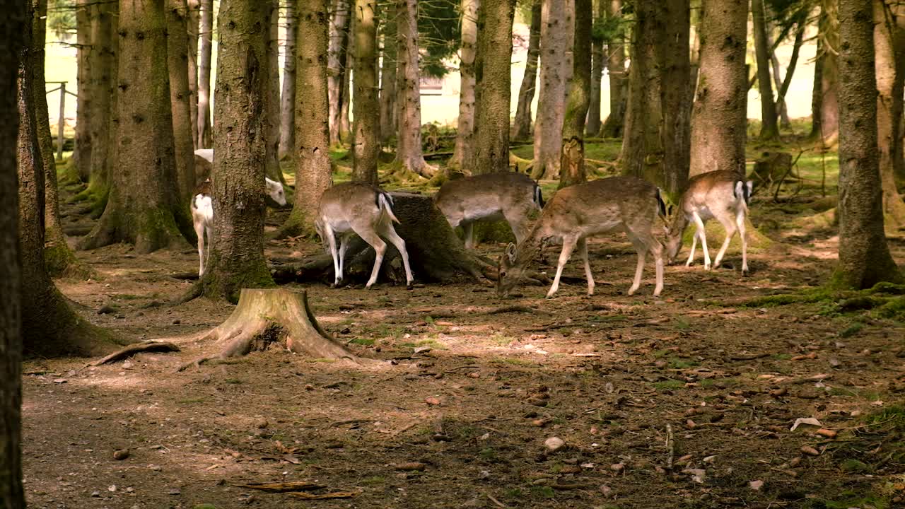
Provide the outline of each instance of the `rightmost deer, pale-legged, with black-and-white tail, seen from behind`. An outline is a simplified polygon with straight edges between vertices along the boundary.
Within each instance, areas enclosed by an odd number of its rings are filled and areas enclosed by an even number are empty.
[[[741,237],[741,272],[748,274],[748,242],[745,239],[745,218],[748,216],[748,202],[751,201],[752,182],[738,178],[738,174],[730,170],[710,171],[691,178],[688,189],[679,200],[679,209],[675,211],[670,226],[666,245],[666,260],[669,264],[675,261],[681,250],[681,237],[685,228],[694,223],[696,230],[691,237],[691,253],[685,266],[694,261],[694,249],[700,238],[700,248],[704,251],[704,270],[710,270],[710,253],[707,251],[707,238],[704,223],[716,217],[726,228],[726,240],[719,249],[714,267],[719,267],[729,241],[738,231]]]

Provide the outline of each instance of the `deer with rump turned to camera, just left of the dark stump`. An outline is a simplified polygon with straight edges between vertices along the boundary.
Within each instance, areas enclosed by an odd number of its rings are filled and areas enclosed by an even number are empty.
[[[342,281],[343,262],[352,235],[357,234],[371,245],[376,252],[374,269],[365,288],[370,288],[377,280],[380,264],[386,253],[386,238],[402,255],[405,265],[405,285],[412,287],[412,269],[408,264],[408,252],[405,251],[405,240],[395,233],[393,223],[399,220],[393,214],[393,197],[383,189],[359,182],[347,182],[330,187],[320,197],[318,217],[314,228],[329,248],[333,256],[334,280],[338,286]],[[339,248],[337,249],[337,235]]]

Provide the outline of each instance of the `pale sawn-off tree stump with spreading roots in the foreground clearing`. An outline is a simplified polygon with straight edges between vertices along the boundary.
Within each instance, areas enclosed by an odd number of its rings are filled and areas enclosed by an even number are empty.
[[[243,289],[233,314],[205,335],[222,350],[214,357],[193,360],[185,370],[208,360],[241,357],[251,351],[267,350],[279,342],[286,350],[317,359],[360,362],[351,351],[324,331],[308,305],[308,293],[278,289]]]

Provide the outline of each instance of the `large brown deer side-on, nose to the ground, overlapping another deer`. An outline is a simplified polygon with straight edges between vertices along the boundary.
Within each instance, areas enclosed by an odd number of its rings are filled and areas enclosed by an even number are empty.
[[[586,238],[593,235],[624,231],[638,252],[638,265],[628,294],[641,285],[641,274],[647,252],[653,253],[657,269],[659,295],[663,289],[663,248],[653,236],[658,216],[665,216],[666,208],[660,189],[640,178],[613,177],[564,187],[557,191],[544,207],[528,238],[518,247],[510,244],[500,258],[500,278],[497,293],[506,296],[524,277],[528,264],[545,244],[562,240],[557,275],[547,293],[553,296],[559,289],[559,278],[572,250],[577,246],[585,262],[587,294],[594,294],[594,276],[587,259]]]

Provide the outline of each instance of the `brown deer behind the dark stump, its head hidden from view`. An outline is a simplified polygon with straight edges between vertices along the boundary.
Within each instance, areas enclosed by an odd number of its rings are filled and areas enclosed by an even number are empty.
[[[515,172],[450,180],[440,187],[433,201],[450,226],[462,226],[466,249],[474,246],[472,226],[478,219],[506,219],[520,245],[529,232],[529,213],[544,207],[538,183]]]

